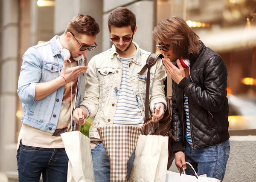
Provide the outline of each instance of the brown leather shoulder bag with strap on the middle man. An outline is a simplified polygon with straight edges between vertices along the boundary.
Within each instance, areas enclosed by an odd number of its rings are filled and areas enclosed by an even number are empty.
[[[149,85],[150,85],[150,68],[153,66],[156,62],[158,57],[161,59],[163,58],[162,54],[154,54],[151,53],[148,56],[148,59],[146,61],[146,65],[141,69],[141,71],[138,74],[143,74],[146,70],[147,72],[147,81],[146,81],[146,99],[145,99],[145,119],[144,123],[151,120],[149,117]],[[165,94],[167,94],[167,80],[164,82],[165,85]],[[167,109],[164,113],[163,119],[160,119],[158,123],[151,122],[148,125],[145,125],[142,129],[143,135],[162,135],[165,137],[169,137],[169,145],[168,145],[168,151],[169,151],[169,158],[168,158],[168,165],[167,170],[171,167],[172,161],[174,159],[174,154],[172,152],[172,141],[176,140],[175,137],[172,135],[172,96],[166,96],[167,101]]]

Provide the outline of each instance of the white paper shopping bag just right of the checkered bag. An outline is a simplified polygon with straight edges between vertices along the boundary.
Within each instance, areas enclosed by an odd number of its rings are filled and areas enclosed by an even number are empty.
[[[129,182],[165,182],[168,137],[140,135]]]

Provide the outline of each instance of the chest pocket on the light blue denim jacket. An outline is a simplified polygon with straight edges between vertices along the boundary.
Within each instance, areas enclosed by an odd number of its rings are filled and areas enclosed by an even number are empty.
[[[42,80],[43,82],[49,82],[56,79],[61,71],[62,66],[52,63],[43,63]]]

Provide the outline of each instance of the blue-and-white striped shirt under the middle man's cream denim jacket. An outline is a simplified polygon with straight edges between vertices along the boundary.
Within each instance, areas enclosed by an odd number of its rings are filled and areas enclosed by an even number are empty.
[[[120,59],[123,63],[123,71],[113,125],[142,126],[144,119],[134,97],[129,76],[129,64],[133,57],[120,57]]]

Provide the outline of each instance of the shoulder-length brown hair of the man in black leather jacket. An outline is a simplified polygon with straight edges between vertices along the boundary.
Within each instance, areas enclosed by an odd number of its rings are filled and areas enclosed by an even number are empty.
[[[161,20],[152,32],[155,41],[170,44],[177,57],[189,58],[189,53],[196,57],[200,40],[197,34],[180,17],[173,16]]]

